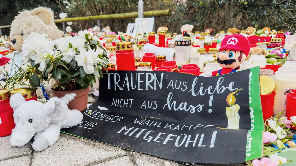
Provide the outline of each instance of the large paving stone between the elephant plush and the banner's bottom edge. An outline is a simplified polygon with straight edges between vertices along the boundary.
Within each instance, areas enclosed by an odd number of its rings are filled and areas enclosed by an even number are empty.
[[[109,157],[126,155],[122,149],[88,139],[60,134],[55,144],[34,152],[34,165],[87,165]]]

